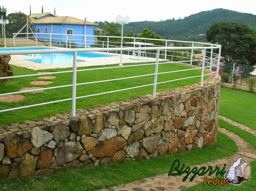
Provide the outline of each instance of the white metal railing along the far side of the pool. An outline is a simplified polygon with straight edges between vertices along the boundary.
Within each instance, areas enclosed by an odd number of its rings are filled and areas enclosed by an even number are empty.
[[[31,45],[38,45],[38,42],[43,42],[44,44],[49,44],[50,47],[51,46],[61,46],[61,47],[65,47],[65,48],[76,48],[76,47],[84,47],[84,48],[88,48],[88,47],[96,47],[96,48],[111,48],[111,47],[121,47],[121,42],[116,42],[113,41],[113,39],[121,39],[122,37],[120,36],[100,36],[100,35],[75,35],[73,34],[72,36],[67,35],[67,34],[59,34],[59,33],[19,33],[18,35],[35,35],[35,37],[29,37],[30,40],[34,40],[31,42],[28,42],[27,39],[24,39],[23,37],[18,37],[17,36],[18,33],[14,33],[13,34],[13,43],[14,46],[18,45],[22,45],[24,43],[28,44],[30,43]],[[40,36],[44,36],[44,37],[40,37]],[[99,38],[106,38],[106,41],[99,41]],[[165,40],[165,39],[147,39],[147,38],[138,38],[138,37],[123,37],[124,42],[125,41],[129,41],[129,42],[137,42],[137,41],[159,41],[159,42],[163,42],[163,46],[161,45],[151,45],[149,47],[168,47],[168,44],[171,43],[175,43],[175,46],[181,46],[185,44],[185,46],[191,46],[191,47],[195,47],[195,43],[197,44],[202,44],[204,46],[209,46],[208,49],[211,49],[211,46],[215,46],[214,44],[210,44],[210,43],[203,43],[203,42],[193,42],[193,41],[176,41],[176,40]],[[121,40],[120,40],[121,41]],[[132,45],[133,47],[135,47],[135,45]],[[131,47],[128,46],[127,44],[123,43],[122,47]],[[200,53],[196,53],[195,51],[200,51]],[[167,57],[173,59],[173,58],[183,58],[182,56],[176,55],[176,53],[181,54],[181,53],[185,53],[187,54],[188,57],[191,57],[191,60],[196,60],[195,58],[193,58],[193,56],[196,55],[200,55],[202,54],[203,49],[191,49],[190,51],[186,51],[186,52],[178,52],[178,51],[171,51],[168,49],[164,49],[163,51],[160,52],[160,58],[162,59],[167,59]],[[206,58],[212,58],[214,56],[218,56],[217,53],[212,52],[213,49],[211,49],[211,52],[206,51],[206,53],[210,53],[211,56]],[[108,52],[108,51],[107,51]],[[116,53],[119,53],[118,51],[116,51]],[[129,52],[124,52],[124,54],[129,54]],[[152,52],[146,52],[146,54],[149,55],[149,57],[156,57],[156,53],[152,53]],[[190,64],[192,65],[192,62],[190,62]],[[211,63],[208,63],[211,64]]]

